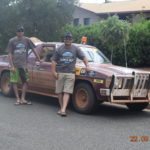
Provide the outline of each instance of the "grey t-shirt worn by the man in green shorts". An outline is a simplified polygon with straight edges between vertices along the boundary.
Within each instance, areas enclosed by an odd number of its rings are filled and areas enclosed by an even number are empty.
[[[28,50],[33,49],[35,46],[27,37],[14,37],[9,40],[8,52],[13,56],[13,64],[17,68],[25,68],[27,64]]]

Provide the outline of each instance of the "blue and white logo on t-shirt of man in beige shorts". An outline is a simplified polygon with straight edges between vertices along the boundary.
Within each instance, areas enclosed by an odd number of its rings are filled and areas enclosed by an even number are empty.
[[[64,52],[62,58],[60,58],[61,63],[70,64],[74,61],[74,56],[71,52]]]

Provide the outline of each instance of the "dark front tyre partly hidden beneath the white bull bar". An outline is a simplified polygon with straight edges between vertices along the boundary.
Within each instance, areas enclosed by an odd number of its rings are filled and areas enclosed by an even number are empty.
[[[132,104],[126,104],[126,105],[131,111],[142,111],[143,109],[145,109],[149,105],[149,103],[147,103],[147,102],[132,103]]]

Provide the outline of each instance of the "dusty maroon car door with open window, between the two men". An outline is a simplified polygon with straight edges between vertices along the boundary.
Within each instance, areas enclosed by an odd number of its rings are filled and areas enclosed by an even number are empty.
[[[44,95],[55,95],[55,78],[52,75],[50,57],[54,52],[54,46],[43,47],[40,54],[42,62],[36,62],[33,67],[33,81],[35,90]]]

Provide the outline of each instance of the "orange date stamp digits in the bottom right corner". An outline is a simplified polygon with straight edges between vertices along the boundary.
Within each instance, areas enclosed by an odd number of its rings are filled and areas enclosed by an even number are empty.
[[[129,136],[130,142],[150,142],[150,136]]]

